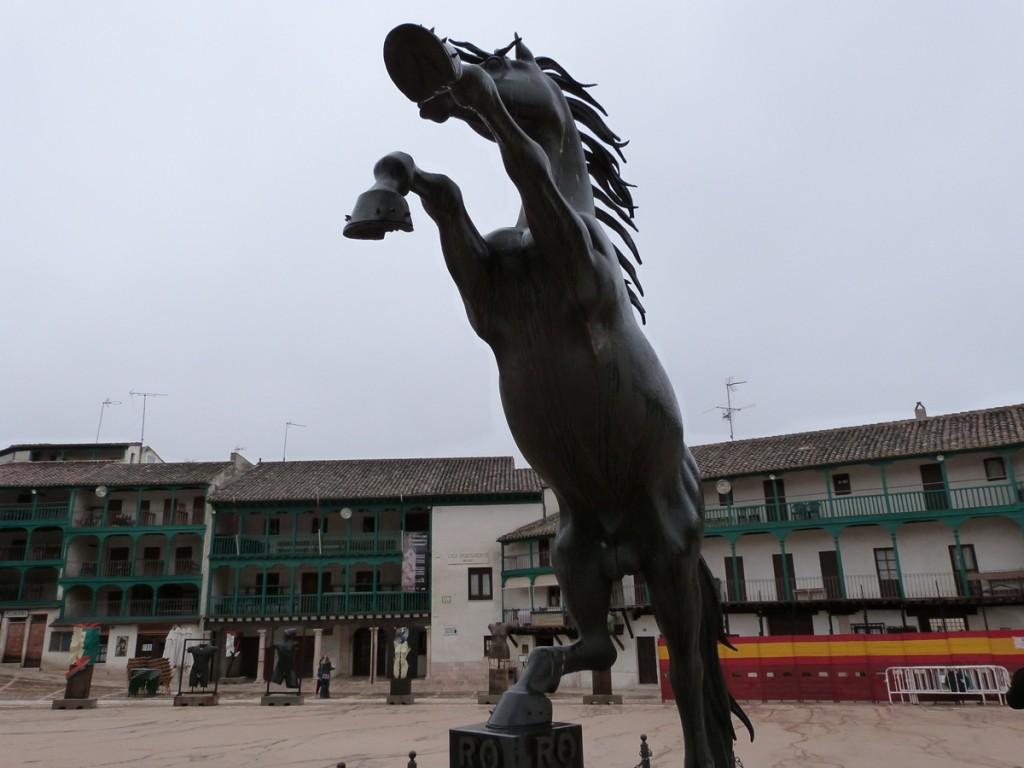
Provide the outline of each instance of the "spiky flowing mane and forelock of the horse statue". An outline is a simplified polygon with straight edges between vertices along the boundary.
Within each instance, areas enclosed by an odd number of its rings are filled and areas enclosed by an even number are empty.
[[[459,57],[470,63],[482,63],[492,56],[498,56],[499,58],[505,58],[508,52],[515,47],[515,44],[519,42],[522,38],[518,35],[515,36],[515,40],[506,45],[504,48],[499,48],[494,52],[488,52],[482,48],[477,47],[473,43],[459,42],[456,40],[446,39],[449,45],[451,45],[459,53]],[[594,182],[591,185],[591,189],[594,193],[595,203],[600,202],[603,206],[610,209],[610,213],[604,208],[600,208],[597,205],[594,206],[595,214],[597,219],[604,224],[606,227],[611,229],[618,238],[622,240],[623,244],[629,249],[633,258],[636,260],[637,264],[642,264],[643,261],[640,259],[640,251],[633,241],[633,236],[630,234],[629,226],[634,231],[639,231],[637,225],[633,221],[634,214],[636,213],[637,206],[633,202],[633,195],[630,191],[630,187],[633,184],[626,181],[623,176],[618,166],[618,161],[626,162],[626,156],[623,154],[623,147],[626,146],[629,141],[623,141],[614,131],[612,131],[608,124],[604,122],[604,118],[608,116],[608,113],[603,106],[587,91],[588,88],[593,88],[596,83],[581,83],[579,80],[573,78],[568,71],[562,67],[558,61],[550,56],[538,56],[537,65],[541,68],[545,75],[551,78],[552,82],[555,83],[562,91],[562,95],[565,96],[565,101],[569,105],[569,110],[572,112],[572,118],[577,123],[577,130],[580,134],[580,140],[584,144],[584,156],[587,158],[587,170],[590,172],[590,178]],[[588,132],[580,130],[581,128],[586,128]],[[615,156],[618,156],[617,158]],[[614,214],[612,216],[611,214]],[[624,226],[624,224],[626,226]],[[644,325],[647,323],[647,311],[644,309],[643,304],[640,303],[640,296],[643,296],[643,286],[640,285],[640,280],[637,278],[636,266],[623,254],[622,250],[612,245],[615,249],[615,257],[618,259],[618,265],[623,268],[623,271],[628,275],[626,280],[626,290],[630,295],[630,303],[636,307],[637,311],[640,313],[640,321]],[[634,286],[636,291],[633,290]]]

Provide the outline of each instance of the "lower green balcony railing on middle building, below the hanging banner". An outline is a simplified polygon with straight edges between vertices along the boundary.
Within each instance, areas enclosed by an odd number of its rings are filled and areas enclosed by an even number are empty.
[[[429,592],[215,595],[210,600],[211,616],[351,615],[422,613],[428,610]]]

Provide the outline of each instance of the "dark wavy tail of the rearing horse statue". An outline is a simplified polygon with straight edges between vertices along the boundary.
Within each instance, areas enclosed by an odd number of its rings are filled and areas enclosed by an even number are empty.
[[[725,683],[725,673],[718,657],[718,644],[722,643],[732,650],[736,648],[729,642],[722,627],[722,604],[719,602],[718,589],[711,568],[705,559],[700,558],[698,566],[698,585],[700,588],[700,659],[703,662],[703,699],[705,717],[708,727],[708,740],[715,756],[716,766],[732,766],[734,764],[732,744],[736,740],[736,731],[732,727],[732,715],[735,715],[750,731],[754,740],[754,726],[743,709],[729,693]]]

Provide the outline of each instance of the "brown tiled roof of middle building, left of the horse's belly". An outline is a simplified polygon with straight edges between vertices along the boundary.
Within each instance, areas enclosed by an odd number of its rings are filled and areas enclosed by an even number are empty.
[[[540,496],[531,469],[511,457],[265,462],[225,483],[212,501],[286,502],[453,496]]]

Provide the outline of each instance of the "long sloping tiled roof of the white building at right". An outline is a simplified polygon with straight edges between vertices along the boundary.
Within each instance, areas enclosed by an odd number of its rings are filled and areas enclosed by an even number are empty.
[[[1024,404],[691,447],[705,479],[1024,445]]]

